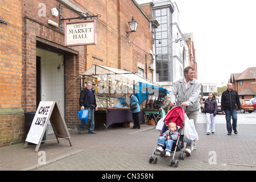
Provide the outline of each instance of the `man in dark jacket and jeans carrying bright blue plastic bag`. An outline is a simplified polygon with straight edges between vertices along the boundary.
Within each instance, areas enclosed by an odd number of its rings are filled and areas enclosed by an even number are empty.
[[[79,126],[77,126],[77,131],[81,134],[82,129],[89,123],[88,133],[96,134],[94,132],[94,109],[97,111],[96,98],[94,95],[94,90],[92,90],[92,82],[88,81],[86,83],[86,88],[81,90],[79,105],[81,109],[88,110],[88,119],[87,122],[82,122]]]

